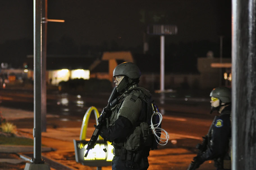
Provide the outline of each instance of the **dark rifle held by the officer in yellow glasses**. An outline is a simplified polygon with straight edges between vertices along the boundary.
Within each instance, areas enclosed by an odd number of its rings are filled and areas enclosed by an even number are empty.
[[[198,153],[197,156],[202,155],[202,153],[204,153],[207,149],[207,145],[209,142],[209,137],[211,136],[211,130],[212,130],[212,126],[214,125],[215,121],[216,121],[217,116],[214,117],[214,120],[212,121],[212,124],[208,130],[208,133],[203,136],[203,141],[202,144],[198,143],[196,145],[196,149],[198,149]],[[188,170],[195,170],[200,166],[200,162],[197,159],[194,159],[193,161],[191,161]]]

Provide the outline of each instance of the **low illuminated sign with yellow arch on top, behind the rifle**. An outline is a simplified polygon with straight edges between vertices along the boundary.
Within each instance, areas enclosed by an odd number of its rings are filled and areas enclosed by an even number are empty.
[[[81,163],[86,166],[96,166],[96,167],[102,167],[102,166],[111,166],[112,159],[114,157],[113,155],[113,146],[110,142],[106,143],[106,149],[107,152],[104,152],[103,149],[105,148],[105,143],[102,139],[102,137],[99,136],[98,141],[96,142],[96,145],[92,150],[89,151],[87,157],[84,157],[86,153],[87,144],[89,141],[87,141],[86,138],[86,131],[88,127],[88,121],[91,115],[91,112],[94,112],[96,124],[98,125],[98,118],[99,118],[99,112],[95,107],[90,107],[83,118],[81,132],[80,132],[80,140],[74,141],[74,148],[75,148],[75,158],[76,162]]]

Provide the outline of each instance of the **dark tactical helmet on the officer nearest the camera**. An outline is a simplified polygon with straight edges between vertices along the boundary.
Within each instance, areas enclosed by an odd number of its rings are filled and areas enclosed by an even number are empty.
[[[117,75],[125,75],[130,79],[138,79],[141,76],[140,69],[134,63],[124,62],[116,66],[113,71],[113,77]]]

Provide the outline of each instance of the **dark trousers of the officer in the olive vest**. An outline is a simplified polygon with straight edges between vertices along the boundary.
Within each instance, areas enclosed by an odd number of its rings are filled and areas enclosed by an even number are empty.
[[[112,170],[147,170],[148,166],[148,157],[141,158],[140,164],[132,160],[122,160],[119,155],[112,160]]]

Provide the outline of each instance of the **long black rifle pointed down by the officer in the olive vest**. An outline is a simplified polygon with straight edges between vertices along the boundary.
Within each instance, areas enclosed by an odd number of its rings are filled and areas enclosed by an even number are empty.
[[[102,128],[104,120],[110,116],[109,115],[109,112],[110,112],[109,109],[110,109],[110,106],[111,106],[110,103],[116,98],[116,96],[117,96],[117,90],[116,90],[116,86],[115,86],[112,90],[112,93],[111,93],[109,99],[108,99],[108,105],[103,108],[103,110],[100,114],[100,117],[98,118],[99,124],[95,128],[95,130],[92,134],[92,137],[91,137],[90,141],[88,142],[88,145],[87,145],[87,148],[86,148],[87,151],[86,151],[86,154],[84,155],[84,157],[87,157],[89,151],[94,148],[94,146],[96,144],[96,141],[99,137],[100,130]]]

